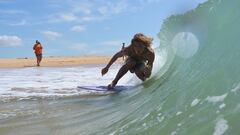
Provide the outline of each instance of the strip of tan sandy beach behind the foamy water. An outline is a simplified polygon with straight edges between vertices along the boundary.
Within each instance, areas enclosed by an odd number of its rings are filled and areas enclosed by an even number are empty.
[[[107,64],[110,56],[44,57],[42,67],[77,66],[83,64]],[[35,67],[36,58],[0,58],[0,68]]]

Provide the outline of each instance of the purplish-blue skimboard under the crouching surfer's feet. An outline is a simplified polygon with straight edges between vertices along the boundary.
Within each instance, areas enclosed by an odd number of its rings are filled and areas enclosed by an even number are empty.
[[[78,86],[79,89],[88,90],[88,91],[123,91],[132,89],[133,86],[115,86],[113,89],[108,89],[107,86]]]

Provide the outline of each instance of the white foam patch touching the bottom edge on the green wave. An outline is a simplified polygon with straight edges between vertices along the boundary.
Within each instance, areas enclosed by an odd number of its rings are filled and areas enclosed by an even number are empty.
[[[227,121],[223,118],[219,119],[215,125],[215,131],[213,135],[222,135],[228,129]]]

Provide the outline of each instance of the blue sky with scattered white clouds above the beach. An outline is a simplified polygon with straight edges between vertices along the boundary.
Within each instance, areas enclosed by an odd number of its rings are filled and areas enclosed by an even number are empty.
[[[135,33],[154,38],[165,18],[206,0],[0,0],[0,58],[112,55]]]

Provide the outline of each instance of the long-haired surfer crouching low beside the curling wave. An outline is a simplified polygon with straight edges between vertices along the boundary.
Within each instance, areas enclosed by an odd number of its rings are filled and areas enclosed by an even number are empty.
[[[118,80],[121,79],[128,71],[135,73],[136,76],[145,81],[151,76],[153,62],[155,59],[154,50],[151,47],[152,38],[145,36],[142,33],[134,35],[131,44],[128,47],[123,47],[109,61],[107,66],[102,69],[102,75],[108,72],[110,66],[119,58],[127,56],[125,64],[119,69],[115,79],[108,85],[108,89],[113,89]]]

